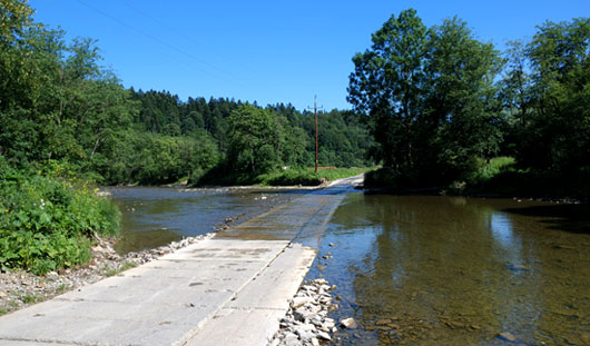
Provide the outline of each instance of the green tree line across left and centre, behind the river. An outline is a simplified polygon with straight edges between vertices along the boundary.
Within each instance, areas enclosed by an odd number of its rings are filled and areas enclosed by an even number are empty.
[[[1,10],[0,155],[10,165],[59,162],[99,184],[153,185],[198,182],[218,166],[256,175],[314,162],[309,112],[126,89],[101,67],[94,40],[67,41],[36,22],[26,1],[3,1]],[[255,132],[239,130],[245,117]],[[371,164],[371,138],[354,113],[324,112],[319,127],[321,165]]]

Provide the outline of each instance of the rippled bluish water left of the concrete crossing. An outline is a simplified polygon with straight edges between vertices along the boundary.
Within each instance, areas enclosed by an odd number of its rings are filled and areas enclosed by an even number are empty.
[[[116,246],[121,254],[204,235],[226,220],[246,220],[295,196],[224,188],[112,187],[106,190],[122,214],[121,239]]]

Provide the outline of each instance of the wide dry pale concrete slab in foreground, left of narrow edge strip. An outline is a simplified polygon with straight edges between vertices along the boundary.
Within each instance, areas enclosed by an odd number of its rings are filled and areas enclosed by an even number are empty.
[[[0,318],[8,340],[171,345],[230,301],[288,241],[209,239]],[[195,256],[209,254],[210,257]]]

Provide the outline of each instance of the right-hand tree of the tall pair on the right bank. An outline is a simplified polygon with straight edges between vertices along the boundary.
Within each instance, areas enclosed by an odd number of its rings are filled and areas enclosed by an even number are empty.
[[[502,60],[492,43],[478,41],[466,22],[455,17],[430,30],[425,61],[427,137],[423,135],[421,142],[431,140],[431,145],[422,154],[436,158],[423,161],[425,167],[419,170],[436,171],[443,181],[463,179],[474,159],[493,157],[499,150],[495,123],[501,107],[494,79]]]

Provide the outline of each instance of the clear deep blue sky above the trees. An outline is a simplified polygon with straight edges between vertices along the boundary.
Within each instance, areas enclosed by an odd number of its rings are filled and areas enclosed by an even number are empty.
[[[503,48],[545,20],[590,17],[590,0],[200,1],[31,0],[36,20],[98,40],[125,87],[266,106],[347,109],[351,58],[392,14],[414,8],[426,26],[459,16]]]

